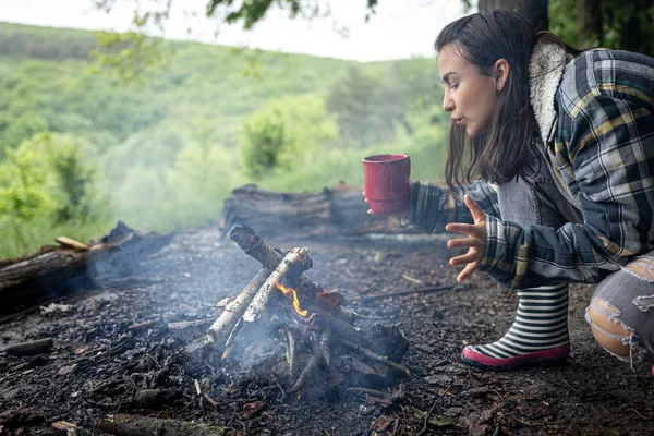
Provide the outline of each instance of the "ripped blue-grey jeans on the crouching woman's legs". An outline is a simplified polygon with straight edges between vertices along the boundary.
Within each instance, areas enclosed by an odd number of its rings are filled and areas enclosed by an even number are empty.
[[[537,173],[497,186],[502,219],[554,228],[566,222],[583,222],[581,211],[557,185],[548,162],[542,156],[540,160]],[[629,356],[611,354],[627,362],[654,362],[654,251],[634,257],[625,269],[610,274],[597,284],[585,318],[593,328],[598,328],[589,316],[590,307],[630,332],[616,336],[600,329],[630,347]]]

